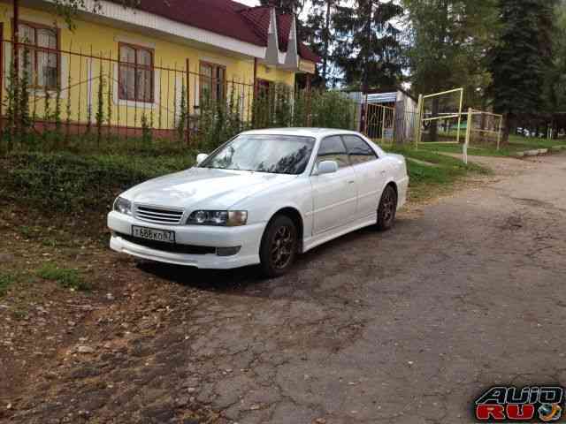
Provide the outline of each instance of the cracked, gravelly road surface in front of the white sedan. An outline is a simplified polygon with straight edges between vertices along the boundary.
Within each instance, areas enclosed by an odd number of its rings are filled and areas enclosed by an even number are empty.
[[[493,383],[565,385],[566,155],[472,160],[495,175],[277,280],[91,252],[111,294],[3,361],[0,420],[470,422]]]

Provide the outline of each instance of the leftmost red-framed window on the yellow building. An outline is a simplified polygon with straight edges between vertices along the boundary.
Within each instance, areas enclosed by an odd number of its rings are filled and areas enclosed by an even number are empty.
[[[27,73],[31,87],[56,89],[59,81],[58,33],[56,28],[19,24],[19,69]]]

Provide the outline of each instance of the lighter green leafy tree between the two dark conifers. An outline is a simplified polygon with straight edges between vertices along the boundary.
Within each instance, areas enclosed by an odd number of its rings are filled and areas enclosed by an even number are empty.
[[[432,94],[463,87],[469,106],[486,109],[486,50],[497,27],[495,0],[404,0],[411,89]],[[452,110],[455,104],[450,105]],[[440,111],[440,99],[432,113]],[[429,131],[437,140],[435,123]]]

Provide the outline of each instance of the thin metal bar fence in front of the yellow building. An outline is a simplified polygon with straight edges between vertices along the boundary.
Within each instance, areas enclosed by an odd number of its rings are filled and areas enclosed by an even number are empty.
[[[302,121],[310,122],[310,90],[297,93],[280,83],[227,79],[226,69],[203,72],[201,64],[188,59],[164,64],[135,52],[125,59],[117,51],[11,41],[2,42],[1,56],[4,134],[27,129],[57,132],[64,139],[150,136],[190,145],[211,128],[230,125],[230,132],[237,133],[277,125],[285,114],[289,120],[297,98],[303,102]]]

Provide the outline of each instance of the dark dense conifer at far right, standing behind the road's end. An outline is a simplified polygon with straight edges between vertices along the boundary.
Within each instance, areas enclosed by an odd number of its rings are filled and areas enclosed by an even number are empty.
[[[517,119],[547,106],[555,0],[500,0],[501,31],[491,51],[493,109],[505,114],[504,141]]]

